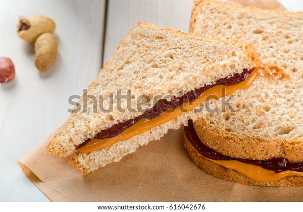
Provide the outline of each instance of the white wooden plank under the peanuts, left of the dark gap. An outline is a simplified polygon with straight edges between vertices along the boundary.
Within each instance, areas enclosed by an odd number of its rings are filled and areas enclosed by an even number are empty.
[[[48,201],[17,160],[69,116],[68,97],[82,94],[101,68],[105,1],[0,0],[0,57],[16,78],[0,84],[0,201]],[[17,36],[18,17],[49,16],[57,24],[59,55],[46,73],[34,66],[34,48]]]

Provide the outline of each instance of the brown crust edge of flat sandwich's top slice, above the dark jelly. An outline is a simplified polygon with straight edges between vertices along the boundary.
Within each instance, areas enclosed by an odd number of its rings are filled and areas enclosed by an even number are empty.
[[[268,160],[284,157],[291,162],[303,161],[303,143],[284,140],[268,140],[258,136],[238,136],[225,133],[208,125],[203,118],[193,123],[202,143],[221,154],[249,160]]]

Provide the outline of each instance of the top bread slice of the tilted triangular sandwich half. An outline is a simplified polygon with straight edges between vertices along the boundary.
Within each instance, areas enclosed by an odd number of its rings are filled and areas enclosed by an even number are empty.
[[[67,156],[74,152],[75,146],[95,137],[98,132],[142,114],[137,110],[136,101],[131,102],[135,111],[128,111],[126,99],[121,100],[121,108],[125,112],[119,112],[116,98],[113,101],[113,112],[102,113],[99,109],[99,96],[103,96],[103,107],[109,109],[110,96],[116,95],[119,90],[121,94],[127,94],[127,90],[131,90],[131,94],[136,97],[148,95],[151,99],[156,95],[178,95],[181,89],[186,92],[203,87],[260,63],[258,54],[251,45],[242,42],[204,38],[159,28],[153,24],[138,23],[121,40],[113,58],[89,84],[86,95],[95,96],[96,104],[88,99],[87,112],[84,112],[85,101],[82,96],[78,102],[81,111],[70,116],[67,126],[55,135],[46,152]],[[144,137],[148,137],[148,134],[150,132],[146,132]],[[159,138],[159,135],[151,136],[148,140],[152,138]],[[146,139],[142,142],[145,141]],[[132,152],[141,141],[136,140],[134,144],[134,139],[130,139],[127,142],[132,146],[120,149],[122,144],[119,142],[110,148],[112,154],[119,155],[114,151]],[[108,150],[102,152],[106,154],[106,151]],[[89,158],[91,157],[86,160]],[[111,160],[117,161],[120,157]]]

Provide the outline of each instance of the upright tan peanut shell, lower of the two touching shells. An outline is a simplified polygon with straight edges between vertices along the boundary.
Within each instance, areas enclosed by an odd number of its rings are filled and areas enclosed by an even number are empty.
[[[57,58],[57,40],[52,33],[41,34],[35,42],[35,66],[39,71],[47,71]]]

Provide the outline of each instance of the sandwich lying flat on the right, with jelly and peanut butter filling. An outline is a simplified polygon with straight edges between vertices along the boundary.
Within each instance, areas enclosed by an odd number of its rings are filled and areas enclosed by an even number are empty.
[[[185,128],[193,162],[221,179],[266,186],[303,185],[303,14],[197,1],[190,32],[253,43],[265,63],[282,67],[291,80],[268,75],[222,110]],[[285,76],[286,76],[285,75]]]

